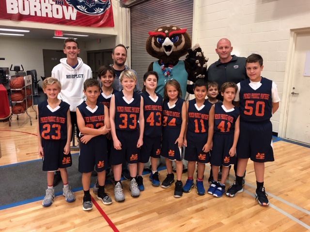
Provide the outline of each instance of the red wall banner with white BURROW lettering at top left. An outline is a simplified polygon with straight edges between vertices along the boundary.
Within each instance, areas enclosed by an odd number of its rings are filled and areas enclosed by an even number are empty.
[[[0,19],[114,27],[111,0],[0,0]]]

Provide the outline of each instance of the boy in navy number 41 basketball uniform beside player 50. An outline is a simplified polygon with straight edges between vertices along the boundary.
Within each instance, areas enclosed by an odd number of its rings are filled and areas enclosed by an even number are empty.
[[[214,135],[210,163],[214,180],[208,193],[221,197],[225,193],[225,181],[230,166],[236,162],[236,146],[239,137],[240,110],[233,105],[238,87],[233,82],[221,86],[223,102],[217,102],[214,108]],[[222,166],[222,178],[217,182],[218,169]]]

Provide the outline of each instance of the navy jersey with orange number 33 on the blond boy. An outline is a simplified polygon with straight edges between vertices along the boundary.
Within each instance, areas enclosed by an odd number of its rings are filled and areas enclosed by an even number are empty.
[[[123,91],[114,94],[115,96],[115,129],[132,131],[138,129],[138,119],[140,115],[141,96],[133,94],[133,98],[128,102]]]

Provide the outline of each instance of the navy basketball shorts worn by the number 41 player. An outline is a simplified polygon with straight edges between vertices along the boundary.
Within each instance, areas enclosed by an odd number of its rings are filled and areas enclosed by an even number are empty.
[[[236,163],[236,155],[231,157],[229,150],[233,146],[234,133],[214,133],[210,163],[214,166],[228,167]]]

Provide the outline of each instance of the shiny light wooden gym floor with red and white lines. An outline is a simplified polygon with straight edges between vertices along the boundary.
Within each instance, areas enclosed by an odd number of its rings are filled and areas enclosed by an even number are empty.
[[[12,118],[0,123],[0,143],[3,165],[38,160],[35,113]],[[0,210],[0,231],[121,231],[121,232],[306,232],[310,231],[310,148],[278,140],[274,143],[275,160],[265,165],[265,188],[270,205],[260,206],[255,201],[256,181],[253,162],[248,162],[244,192],[234,198],[199,196],[195,188],[182,198],[173,197],[171,188],[153,187],[145,175],[145,191],[139,198],[132,198],[129,181],[123,181],[125,202],[114,200],[113,187],[106,192],[113,203],[104,205],[93,196],[92,211],[82,210],[83,192],[75,192],[77,200],[66,203],[62,196],[50,207],[43,207],[42,200]],[[74,153],[75,151],[73,151]],[[78,152],[78,151],[76,151]],[[206,165],[205,179],[210,166]],[[42,174],[45,175],[44,172]],[[166,170],[160,172],[160,180]],[[186,182],[183,174],[183,183]],[[233,170],[226,182],[228,188],[234,180]],[[209,183],[204,181],[204,187]],[[5,186],[1,186],[5,188]],[[45,189],[45,186],[39,187]],[[12,189],[13,191],[14,189]],[[44,196],[42,196],[43,199]],[[1,196],[0,196],[1,199]]]

